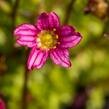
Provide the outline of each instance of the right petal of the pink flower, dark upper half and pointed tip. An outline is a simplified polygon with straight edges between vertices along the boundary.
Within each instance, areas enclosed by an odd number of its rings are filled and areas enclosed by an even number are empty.
[[[66,28],[66,29],[65,29]],[[63,26],[61,29],[60,48],[70,48],[76,46],[82,39],[80,33],[75,32],[71,26]]]

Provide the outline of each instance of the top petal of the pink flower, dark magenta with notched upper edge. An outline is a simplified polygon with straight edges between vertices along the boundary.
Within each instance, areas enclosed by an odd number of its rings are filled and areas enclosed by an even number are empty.
[[[58,28],[60,26],[60,21],[56,13],[42,13],[37,21],[37,27],[40,30],[50,30],[53,28]]]

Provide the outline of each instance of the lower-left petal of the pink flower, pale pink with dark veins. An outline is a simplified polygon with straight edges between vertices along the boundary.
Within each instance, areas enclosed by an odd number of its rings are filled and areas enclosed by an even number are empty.
[[[48,53],[46,51],[41,51],[33,47],[27,62],[28,69],[31,70],[32,68],[41,68],[48,57]]]

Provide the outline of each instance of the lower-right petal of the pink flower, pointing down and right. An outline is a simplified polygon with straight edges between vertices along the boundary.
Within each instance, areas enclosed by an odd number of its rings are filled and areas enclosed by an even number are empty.
[[[50,57],[55,64],[63,67],[70,67],[69,53],[67,49],[55,49],[50,51]]]

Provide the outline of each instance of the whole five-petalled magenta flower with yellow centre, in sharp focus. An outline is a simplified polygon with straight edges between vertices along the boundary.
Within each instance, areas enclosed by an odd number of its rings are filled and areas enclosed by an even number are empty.
[[[72,26],[61,26],[55,12],[42,13],[35,25],[18,26],[14,35],[18,44],[32,48],[27,62],[29,70],[41,68],[48,57],[55,64],[70,67],[68,48],[75,47],[82,38]]]

